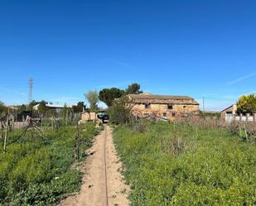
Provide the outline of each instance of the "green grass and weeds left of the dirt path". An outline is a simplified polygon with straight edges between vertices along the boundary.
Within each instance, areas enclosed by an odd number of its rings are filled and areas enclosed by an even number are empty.
[[[81,174],[74,162],[75,127],[45,131],[41,138],[31,132],[9,134],[7,152],[0,146],[0,205],[53,205],[80,188]],[[80,160],[99,132],[93,123],[80,126]]]

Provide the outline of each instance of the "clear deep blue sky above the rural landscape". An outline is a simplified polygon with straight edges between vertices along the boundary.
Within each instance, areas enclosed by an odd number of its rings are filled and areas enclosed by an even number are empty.
[[[256,91],[256,1],[0,1],[0,100],[84,100],[138,82],[205,97],[210,110]]]

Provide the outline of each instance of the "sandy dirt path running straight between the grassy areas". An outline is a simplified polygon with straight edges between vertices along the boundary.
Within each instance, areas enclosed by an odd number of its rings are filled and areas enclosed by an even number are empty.
[[[64,199],[60,206],[128,206],[128,185],[123,183],[112,130],[105,126],[104,132],[95,137],[94,145],[87,151],[85,173],[80,193]]]

